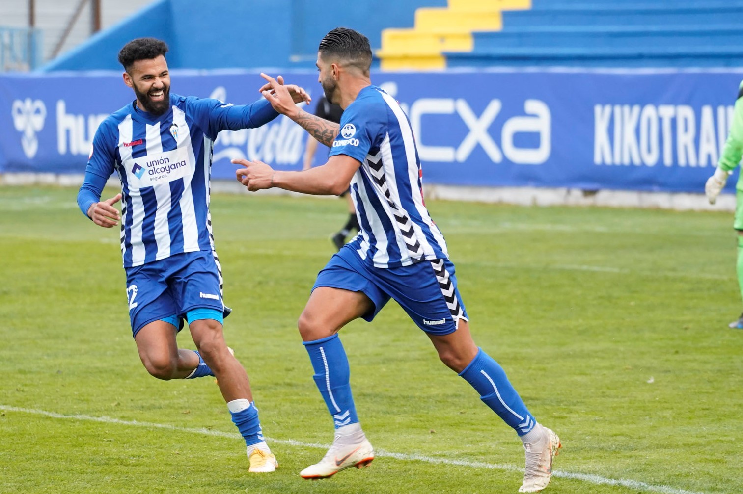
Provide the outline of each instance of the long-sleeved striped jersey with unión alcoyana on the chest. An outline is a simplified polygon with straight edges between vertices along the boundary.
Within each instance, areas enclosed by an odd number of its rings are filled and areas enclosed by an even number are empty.
[[[213,250],[213,142],[219,131],[259,127],[278,115],[265,99],[235,106],[171,94],[170,105],[160,116],[126,105],[101,123],[93,139],[78,204],[87,214],[117,172],[125,268],[180,252]]]

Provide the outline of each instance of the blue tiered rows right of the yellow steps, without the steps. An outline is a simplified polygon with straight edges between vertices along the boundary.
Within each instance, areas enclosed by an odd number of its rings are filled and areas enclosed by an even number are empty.
[[[473,33],[447,66],[732,67],[743,65],[743,0],[533,0],[503,30]]]

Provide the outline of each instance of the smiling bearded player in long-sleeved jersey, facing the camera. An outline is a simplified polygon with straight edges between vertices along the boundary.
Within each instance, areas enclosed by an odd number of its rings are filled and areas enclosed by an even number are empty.
[[[249,471],[273,472],[278,462],[262,435],[247,373],[224,341],[231,310],[222,300],[209,203],[218,132],[256,128],[279,113],[265,99],[228,105],[171,93],[167,51],[153,38],[121,49],[123,82],[136,99],[96,131],[77,202],[96,225],[120,223],[132,335],[147,372],[164,381],[215,376],[247,445]],[[294,101],[309,103],[302,88],[289,88]],[[102,201],[114,171],[121,193]],[[114,206],[120,200],[121,212]],[[184,322],[198,351],[178,348]]]

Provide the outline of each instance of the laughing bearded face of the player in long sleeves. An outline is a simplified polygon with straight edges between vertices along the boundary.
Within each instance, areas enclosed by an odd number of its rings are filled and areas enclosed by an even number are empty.
[[[170,73],[164,56],[134,62],[124,73],[124,84],[134,90],[141,110],[158,116],[170,108]]]

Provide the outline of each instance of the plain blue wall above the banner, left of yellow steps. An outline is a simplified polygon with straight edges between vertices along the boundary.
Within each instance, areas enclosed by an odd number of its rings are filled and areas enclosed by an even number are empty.
[[[446,0],[160,0],[42,67],[120,70],[117,54],[152,36],[171,48],[171,68],[314,68],[317,45],[334,27],[351,27],[380,47],[385,27],[412,27],[418,7]],[[380,13],[384,12],[384,15]]]

